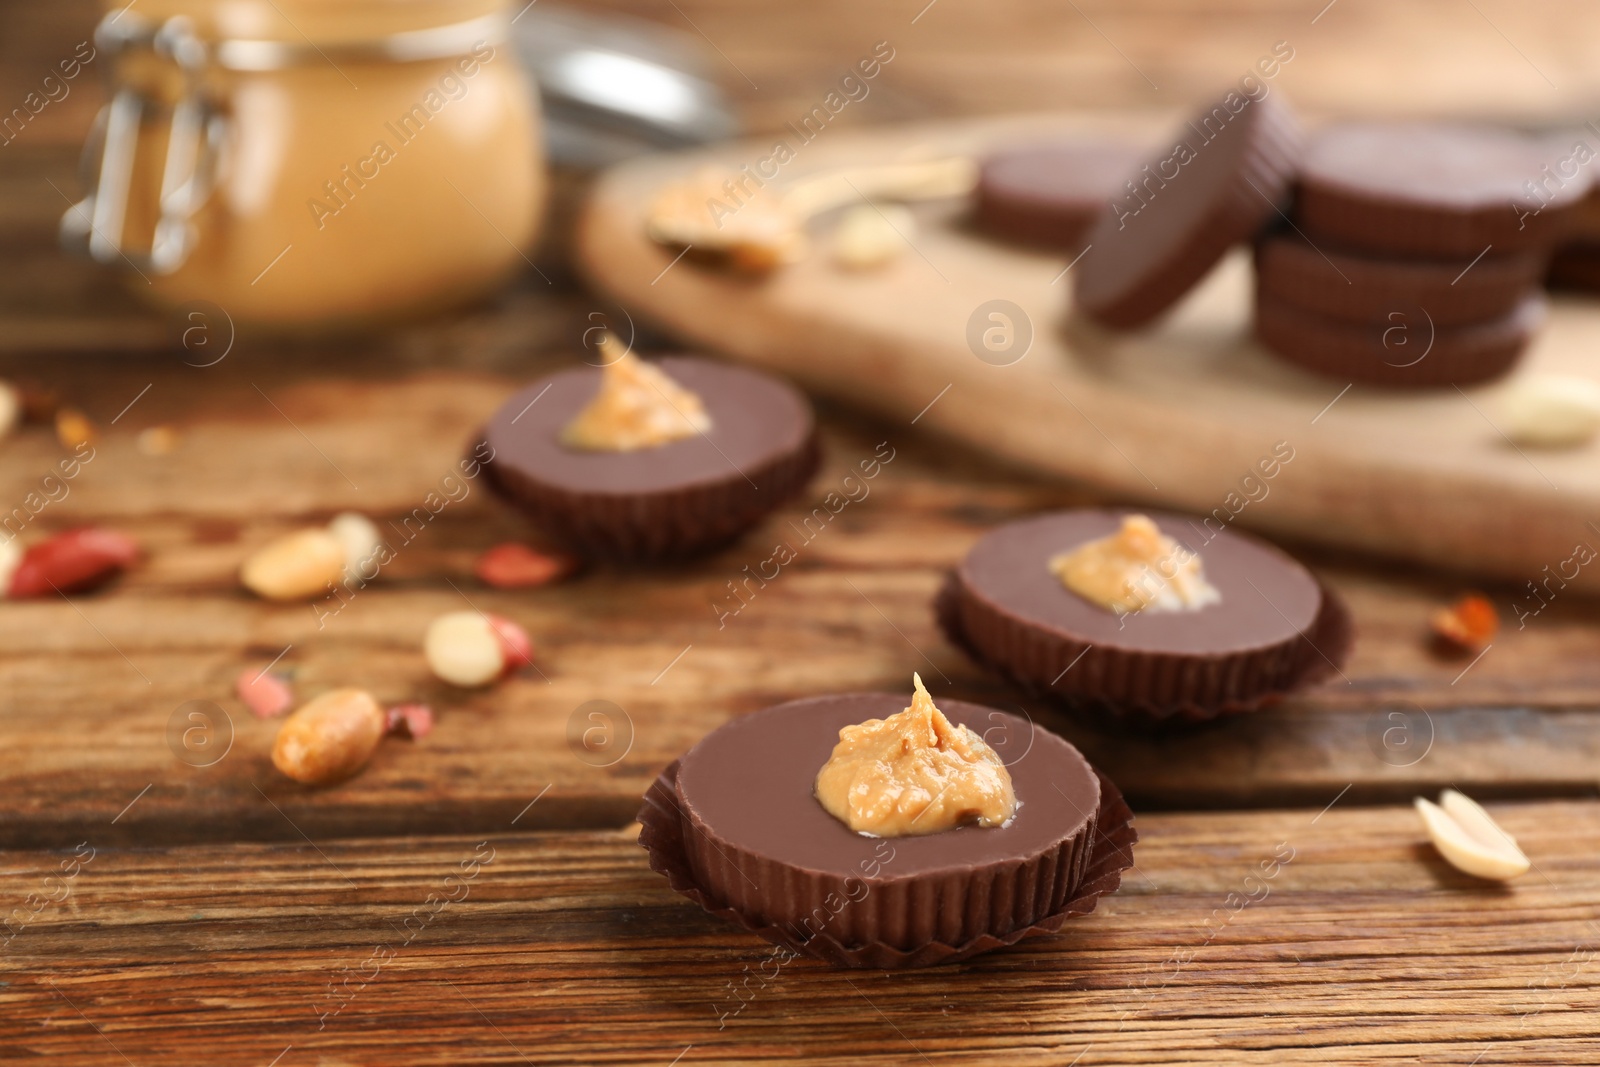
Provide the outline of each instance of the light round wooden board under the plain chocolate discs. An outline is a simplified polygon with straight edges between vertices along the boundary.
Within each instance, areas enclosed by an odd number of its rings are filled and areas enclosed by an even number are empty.
[[[800,147],[782,181],[1074,131],[1158,142],[1170,120],[1058,115],[827,128]],[[664,182],[706,163],[755,165],[771,150],[750,141],[651,157],[603,176],[579,232],[589,277],[632,315],[707,349],[1133,501],[1211,515],[1213,525],[1509,579],[1515,614],[1541,605],[1525,582],[1541,582],[1544,600],[1562,590],[1560,574],[1571,587],[1600,590],[1600,566],[1574,561],[1579,542],[1600,547],[1600,446],[1514,446],[1496,429],[1504,382],[1347,389],[1275,362],[1250,338],[1245,251],[1155,328],[1112,334],[1069,322],[1064,258],[979,235],[963,203],[923,206],[912,248],[874,274],[840,270],[818,242],[803,262],[749,280],[674,262],[645,238],[645,210]],[[827,219],[818,234],[826,238]],[[1003,325],[987,318],[990,301],[1021,309],[1013,326],[1018,336],[1032,333],[1026,355],[1008,365],[979,358],[970,342],[973,331]],[[1416,331],[1426,341],[1426,328]],[[1600,302],[1558,296],[1515,373],[1581,374],[1597,352]],[[1261,478],[1259,464],[1274,454],[1293,458]]]

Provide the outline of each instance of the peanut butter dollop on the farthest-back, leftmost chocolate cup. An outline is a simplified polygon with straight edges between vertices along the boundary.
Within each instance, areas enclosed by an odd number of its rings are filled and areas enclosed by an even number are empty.
[[[600,352],[606,360],[600,392],[562,430],[563,445],[592,453],[632,453],[710,429],[701,398],[659,366],[618,350],[610,334],[600,341]]]

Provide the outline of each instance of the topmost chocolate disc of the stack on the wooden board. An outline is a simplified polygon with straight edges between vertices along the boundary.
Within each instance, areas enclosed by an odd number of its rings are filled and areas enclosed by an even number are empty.
[[[1310,240],[1400,256],[1547,250],[1573,226],[1587,171],[1552,173],[1549,141],[1504,130],[1346,123],[1312,138],[1296,219]]]

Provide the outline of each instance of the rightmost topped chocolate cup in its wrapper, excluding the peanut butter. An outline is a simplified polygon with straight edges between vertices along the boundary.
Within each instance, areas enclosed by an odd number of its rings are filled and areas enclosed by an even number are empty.
[[[1115,533],[1125,515],[1083,509],[984,536],[939,595],[941,627],[1029,691],[1158,720],[1251,710],[1342,664],[1349,616],[1310,571],[1214,518],[1147,514],[1200,555],[1218,603],[1117,616],[1070,592],[1051,557]]]

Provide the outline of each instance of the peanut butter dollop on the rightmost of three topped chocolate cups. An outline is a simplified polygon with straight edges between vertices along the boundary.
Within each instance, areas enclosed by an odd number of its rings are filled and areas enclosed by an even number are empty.
[[[1069,590],[1107,611],[1198,611],[1222,600],[1205,581],[1200,557],[1157,528],[1147,515],[1125,515],[1122,528],[1050,560]]]

